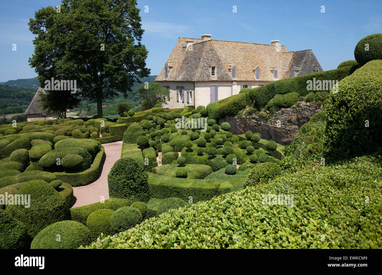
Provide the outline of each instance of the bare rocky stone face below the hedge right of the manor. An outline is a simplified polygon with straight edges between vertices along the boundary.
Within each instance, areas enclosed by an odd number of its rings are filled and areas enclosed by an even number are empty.
[[[299,107],[282,109],[269,115],[267,118],[252,115],[247,117],[225,117],[219,120],[219,124],[228,122],[231,125],[230,132],[244,134],[246,131],[260,133],[261,138],[289,145],[297,136],[298,129],[322,109],[312,103],[299,102]]]

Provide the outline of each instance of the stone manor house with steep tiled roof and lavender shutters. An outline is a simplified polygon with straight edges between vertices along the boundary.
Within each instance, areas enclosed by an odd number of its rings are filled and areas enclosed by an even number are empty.
[[[174,109],[238,94],[272,81],[322,72],[312,50],[287,51],[279,40],[270,44],[179,37],[160,74],[155,78],[168,90]]]

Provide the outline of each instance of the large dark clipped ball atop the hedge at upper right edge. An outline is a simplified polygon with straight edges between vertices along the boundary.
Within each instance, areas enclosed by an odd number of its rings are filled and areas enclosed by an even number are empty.
[[[369,45],[367,49],[366,44]],[[382,34],[368,35],[359,40],[354,49],[354,58],[360,65],[372,60],[382,59]]]

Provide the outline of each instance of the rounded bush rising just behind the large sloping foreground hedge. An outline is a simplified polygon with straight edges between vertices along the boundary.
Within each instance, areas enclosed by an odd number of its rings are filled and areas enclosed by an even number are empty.
[[[251,173],[248,174],[245,180],[245,185],[252,186],[259,183],[268,182],[269,179],[273,179],[279,174],[281,174],[281,169],[277,164],[271,162],[260,163],[251,170]]]

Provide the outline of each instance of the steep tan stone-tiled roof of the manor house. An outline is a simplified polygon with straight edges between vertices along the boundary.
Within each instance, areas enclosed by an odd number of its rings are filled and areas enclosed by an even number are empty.
[[[192,51],[186,49],[187,41],[193,41]],[[301,54],[297,54],[298,60],[293,62],[296,53]],[[304,62],[304,54],[314,56],[311,50],[287,51],[285,46],[281,46],[280,51],[276,51],[272,44],[180,37],[167,59],[168,66],[171,68],[168,77],[165,77],[165,66],[163,66],[155,81],[210,81],[212,80],[211,62],[217,64],[217,80],[220,81],[255,80],[256,67],[260,68],[261,81],[273,81],[274,67],[278,69],[278,79],[288,77],[293,64],[297,64],[298,61]],[[318,64],[317,59],[315,57],[314,59]],[[236,67],[236,78],[231,77],[230,66],[233,65]],[[308,69],[309,66],[307,66]],[[322,71],[320,66],[319,69]]]

